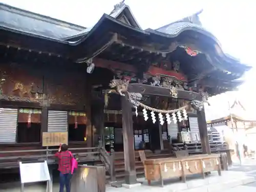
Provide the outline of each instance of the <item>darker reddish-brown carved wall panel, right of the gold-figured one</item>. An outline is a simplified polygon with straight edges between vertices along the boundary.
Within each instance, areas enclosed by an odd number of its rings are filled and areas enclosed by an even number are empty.
[[[52,72],[46,75],[47,94],[51,103],[84,104],[86,80],[84,74]]]

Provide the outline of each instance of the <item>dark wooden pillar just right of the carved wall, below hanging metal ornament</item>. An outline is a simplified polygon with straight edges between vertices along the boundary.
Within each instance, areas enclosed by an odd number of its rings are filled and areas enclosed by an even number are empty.
[[[88,75],[88,74],[87,74]],[[86,143],[87,147],[93,146],[93,127],[92,127],[92,85],[91,79],[86,78],[86,100],[85,100],[85,111],[86,111]]]

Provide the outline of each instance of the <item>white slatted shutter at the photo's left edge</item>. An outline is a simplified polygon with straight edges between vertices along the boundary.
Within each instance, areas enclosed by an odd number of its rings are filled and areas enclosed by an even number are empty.
[[[0,108],[0,142],[16,141],[17,118],[17,109]]]

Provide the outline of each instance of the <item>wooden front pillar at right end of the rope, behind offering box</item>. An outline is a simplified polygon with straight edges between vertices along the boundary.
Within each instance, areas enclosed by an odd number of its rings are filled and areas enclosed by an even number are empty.
[[[197,111],[197,116],[203,154],[211,154],[204,109],[202,111]]]

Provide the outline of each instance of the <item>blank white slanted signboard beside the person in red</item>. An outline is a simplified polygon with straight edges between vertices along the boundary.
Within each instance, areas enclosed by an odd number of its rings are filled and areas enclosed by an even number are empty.
[[[36,163],[19,162],[19,173],[20,181],[23,184],[51,180],[46,161]]]

